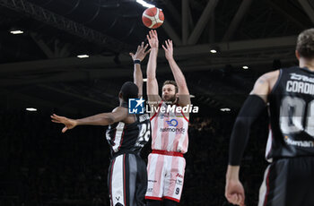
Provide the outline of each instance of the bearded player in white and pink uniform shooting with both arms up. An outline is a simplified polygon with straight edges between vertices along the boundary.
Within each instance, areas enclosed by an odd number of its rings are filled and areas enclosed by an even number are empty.
[[[188,150],[188,113],[168,110],[169,107],[190,106],[186,79],[173,58],[171,40],[162,45],[175,81],[166,81],[160,97],[156,80],[159,41],[156,30],[147,39],[151,54],[147,64],[147,96],[151,111],[152,153],[148,157],[148,185],[145,198],[148,206],[178,205],[181,197]]]

